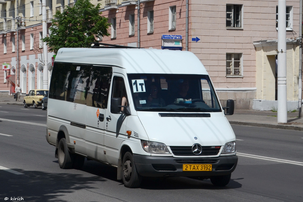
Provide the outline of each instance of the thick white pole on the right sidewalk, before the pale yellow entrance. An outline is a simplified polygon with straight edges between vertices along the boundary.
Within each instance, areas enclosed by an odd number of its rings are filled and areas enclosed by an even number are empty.
[[[286,0],[278,0],[278,123],[287,123]]]

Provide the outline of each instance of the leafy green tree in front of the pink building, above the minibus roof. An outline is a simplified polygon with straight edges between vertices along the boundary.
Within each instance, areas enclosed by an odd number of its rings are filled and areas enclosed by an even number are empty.
[[[111,25],[108,18],[99,13],[100,4],[93,5],[90,0],[78,0],[73,7],[67,7],[62,13],[56,11],[49,28],[50,35],[42,39],[49,50],[57,54],[59,48],[89,48],[96,38],[109,36]]]

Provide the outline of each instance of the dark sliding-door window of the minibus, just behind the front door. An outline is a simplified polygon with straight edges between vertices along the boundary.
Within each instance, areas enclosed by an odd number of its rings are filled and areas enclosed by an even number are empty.
[[[112,67],[93,66],[91,75],[86,82],[86,105],[107,108],[108,90],[112,78]]]

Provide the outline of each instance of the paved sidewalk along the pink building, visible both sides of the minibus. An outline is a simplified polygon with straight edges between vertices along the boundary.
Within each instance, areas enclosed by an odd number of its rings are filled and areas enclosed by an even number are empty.
[[[21,101],[15,101],[14,97],[0,97],[0,104],[16,104],[23,106]],[[230,124],[279,128],[288,130],[303,131],[303,118],[299,118],[299,112],[287,113],[287,124],[278,124],[277,112],[255,111],[255,110],[235,110],[231,116],[226,116]]]

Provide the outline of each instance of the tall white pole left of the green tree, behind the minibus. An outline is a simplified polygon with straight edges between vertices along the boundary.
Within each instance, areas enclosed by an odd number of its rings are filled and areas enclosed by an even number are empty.
[[[47,37],[47,24],[46,24],[46,0],[42,0],[42,38]],[[47,60],[47,45],[43,42],[43,89],[48,89],[48,60]]]

